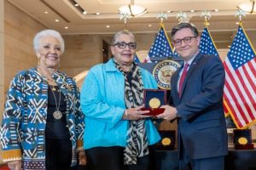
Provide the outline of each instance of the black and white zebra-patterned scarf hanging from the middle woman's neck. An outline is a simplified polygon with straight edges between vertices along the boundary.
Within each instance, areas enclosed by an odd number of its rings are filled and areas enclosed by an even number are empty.
[[[119,65],[113,59],[115,66],[125,77],[125,105],[126,108],[134,108],[143,105],[143,79],[139,67],[131,65],[131,84]],[[145,121],[143,119],[129,122],[126,147],[124,152],[125,165],[137,164],[137,157],[148,155],[148,139],[146,136]]]

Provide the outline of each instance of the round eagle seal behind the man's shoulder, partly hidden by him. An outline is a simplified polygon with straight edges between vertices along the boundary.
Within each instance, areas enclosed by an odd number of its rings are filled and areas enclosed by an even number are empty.
[[[158,87],[161,89],[171,89],[172,74],[177,71],[180,65],[171,59],[160,61],[154,66],[153,76]]]

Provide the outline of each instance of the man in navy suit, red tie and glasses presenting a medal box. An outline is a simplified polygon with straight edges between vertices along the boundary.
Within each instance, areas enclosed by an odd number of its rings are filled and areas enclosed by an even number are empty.
[[[224,170],[224,66],[217,56],[199,52],[195,26],[175,26],[172,42],[184,64],[172,75],[171,103],[162,106],[166,111],[158,117],[177,119],[179,169]]]

